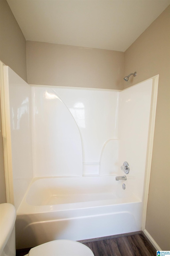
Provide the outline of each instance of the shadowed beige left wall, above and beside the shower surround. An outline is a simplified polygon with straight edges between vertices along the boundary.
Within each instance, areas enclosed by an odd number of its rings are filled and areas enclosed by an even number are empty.
[[[26,41],[6,0],[0,0],[0,60],[27,81]],[[1,109],[0,130],[0,203],[3,203],[6,202],[6,188]]]

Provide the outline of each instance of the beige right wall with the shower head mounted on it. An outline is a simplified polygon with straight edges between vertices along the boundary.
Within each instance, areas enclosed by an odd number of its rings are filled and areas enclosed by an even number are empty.
[[[123,88],[159,74],[146,230],[170,250],[170,6],[125,51]]]

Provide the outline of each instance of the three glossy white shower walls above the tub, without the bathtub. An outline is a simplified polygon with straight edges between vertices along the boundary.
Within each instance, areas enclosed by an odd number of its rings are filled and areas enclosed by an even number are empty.
[[[126,181],[116,181],[116,194],[133,194],[143,204],[151,120],[155,118],[153,81],[123,91],[30,86],[4,66],[6,143],[8,159],[12,158],[6,175],[8,201],[18,209],[30,183],[39,177],[93,177],[88,181],[95,193],[102,177],[125,175],[120,166],[127,161],[130,172]],[[139,208],[137,215],[142,216]]]

